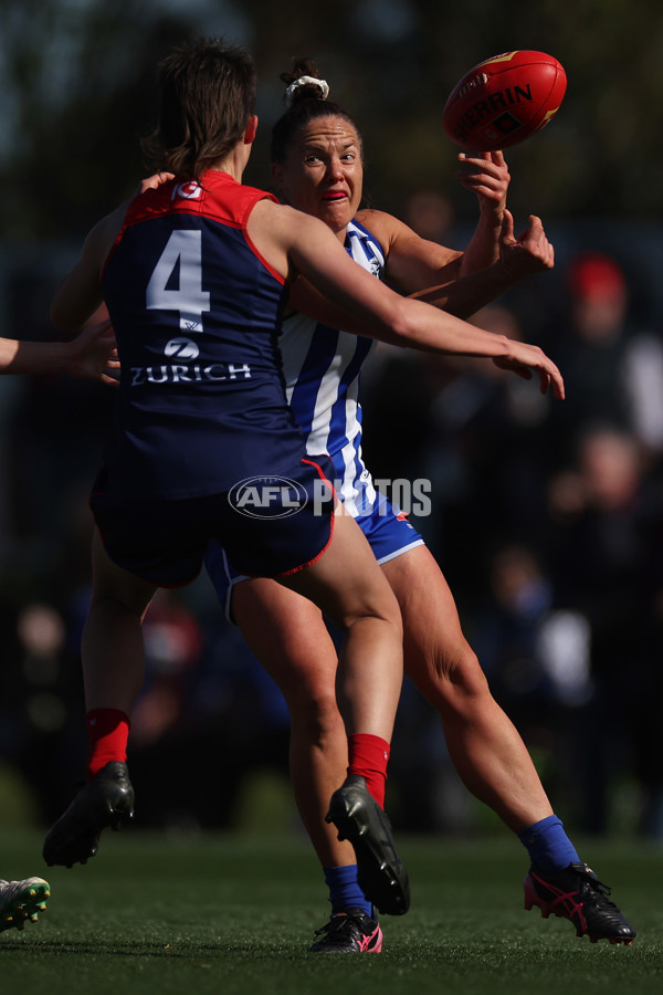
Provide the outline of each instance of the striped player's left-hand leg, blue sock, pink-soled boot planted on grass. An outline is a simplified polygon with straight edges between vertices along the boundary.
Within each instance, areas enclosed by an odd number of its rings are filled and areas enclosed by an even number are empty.
[[[346,776],[348,745],[335,693],[338,658],[323,616],[307,598],[264,578],[238,584],[232,610],[290,711],[293,790],[332,903],[309,950],[379,953],[382,932],[359,887],[352,846],[325,821],[329,798]]]

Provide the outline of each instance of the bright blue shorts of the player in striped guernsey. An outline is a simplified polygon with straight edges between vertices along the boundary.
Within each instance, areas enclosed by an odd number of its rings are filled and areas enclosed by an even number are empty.
[[[399,512],[379,492],[370,512],[358,515],[355,521],[367,537],[379,564],[396,559],[408,549],[424,544],[421,535],[408,521],[407,515]],[[215,540],[208,547],[204,566],[214,585],[225,617],[230,621],[234,621],[231,607],[233,587],[240,580],[246,580],[249,575],[235,568],[228,551]]]

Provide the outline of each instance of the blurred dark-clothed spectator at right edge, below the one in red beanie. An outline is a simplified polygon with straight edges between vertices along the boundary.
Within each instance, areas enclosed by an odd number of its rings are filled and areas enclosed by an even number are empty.
[[[591,638],[594,694],[577,724],[586,829],[609,828],[615,778],[634,776],[640,828],[663,839],[663,484],[632,433],[586,429],[576,465],[549,489],[548,557],[557,598]]]

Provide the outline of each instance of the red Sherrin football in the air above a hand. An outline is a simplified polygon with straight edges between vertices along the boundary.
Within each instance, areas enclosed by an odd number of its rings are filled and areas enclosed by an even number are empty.
[[[456,145],[493,151],[545,127],[566,93],[566,73],[545,52],[504,52],[480,62],[451,92],[442,121]]]

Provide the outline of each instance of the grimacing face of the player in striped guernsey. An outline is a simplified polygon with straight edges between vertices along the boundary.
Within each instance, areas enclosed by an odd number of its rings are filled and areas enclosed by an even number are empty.
[[[322,117],[301,128],[272,175],[291,207],[320,218],[339,235],[361,200],[364,166],[356,129],[343,117]]]

